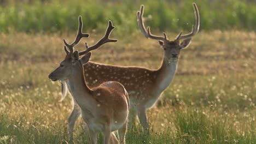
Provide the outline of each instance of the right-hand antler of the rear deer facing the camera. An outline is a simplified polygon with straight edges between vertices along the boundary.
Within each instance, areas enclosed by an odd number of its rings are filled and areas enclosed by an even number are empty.
[[[190,32],[188,34],[181,35],[181,37],[179,37],[179,39],[186,39],[186,38],[193,37],[199,31],[199,26],[200,26],[199,10],[195,3],[193,3],[193,6],[194,6],[194,10],[195,10],[195,19],[196,19],[195,26],[194,25],[192,26],[192,32]]]

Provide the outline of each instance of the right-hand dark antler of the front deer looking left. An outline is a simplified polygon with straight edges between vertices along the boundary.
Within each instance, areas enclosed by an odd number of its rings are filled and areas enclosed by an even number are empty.
[[[112,25],[112,21],[108,21],[108,28],[106,30],[104,37],[101,38],[101,40],[98,41],[98,43],[96,43],[95,45],[90,46],[90,47],[88,46],[87,43],[85,43],[86,50],[79,52],[79,56],[85,55],[86,53],[88,53],[92,50],[98,49],[98,47],[101,47],[103,44],[106,44],[109,42],[117,42],[118,41],[117,39],[109,39],[109,35],[114,28],[115,27]]]

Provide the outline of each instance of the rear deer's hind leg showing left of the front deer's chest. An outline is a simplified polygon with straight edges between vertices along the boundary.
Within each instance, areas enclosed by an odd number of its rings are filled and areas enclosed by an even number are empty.
[[[81,114],[80,107],[74,101],[73,110],[68,117],[68,133],[69,133],[70,141],[73,141],[74,125],[75,125],[75,122],[77,121],[78,117],[80,116],[80,114]]]

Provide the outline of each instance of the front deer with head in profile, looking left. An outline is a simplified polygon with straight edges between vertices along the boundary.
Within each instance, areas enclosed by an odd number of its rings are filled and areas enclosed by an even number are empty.
[[[118,140],[112,131],[117,130],[119,142],[125,143],[125,134],[127,128],[127,118],[129,115],[130,101],[129,96],[121,83],[117,81],[107,81],[100,86],[90,88],[86,84],[87,78],[84,73],[84,65],[89,62],[91,51],[98,49],[101,45],[109,42],[117,42],[115,39],[109,39],[109,34],[115,27],[109,21],[109,25],[103,39],[94,46],[83,52],[83,57],[79,59],[78,50],[74,51],[82,38],[88,38],[89,34],[82,33],[82,17],[79,16],[78,34],[72,44],[68,44],[63,39],[66,57],[60,63],[60,66],[49,74],[52,81],[68,80],[67,85],[75,103],[79,106],[80,113],[88,125],[91,143],[97,142],[97,133],[103,132],[104,143],[108,144],[110,139],[112,143]],[[67,49],[68,47],[68,49]]]

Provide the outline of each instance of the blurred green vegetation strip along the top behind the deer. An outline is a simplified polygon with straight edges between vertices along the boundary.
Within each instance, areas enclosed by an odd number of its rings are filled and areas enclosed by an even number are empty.
[[[193,2],[200,10],[201,30],[256,29],[254,0],[0,0],[0,31],[76,31],[78,16],[82,15],[85,31],[102,31],[112,20],[118,34],[123,35],[137,29],[136,11],[141,4],[145,5],[147,26],[153,31],[190,31],[195,21]]]

